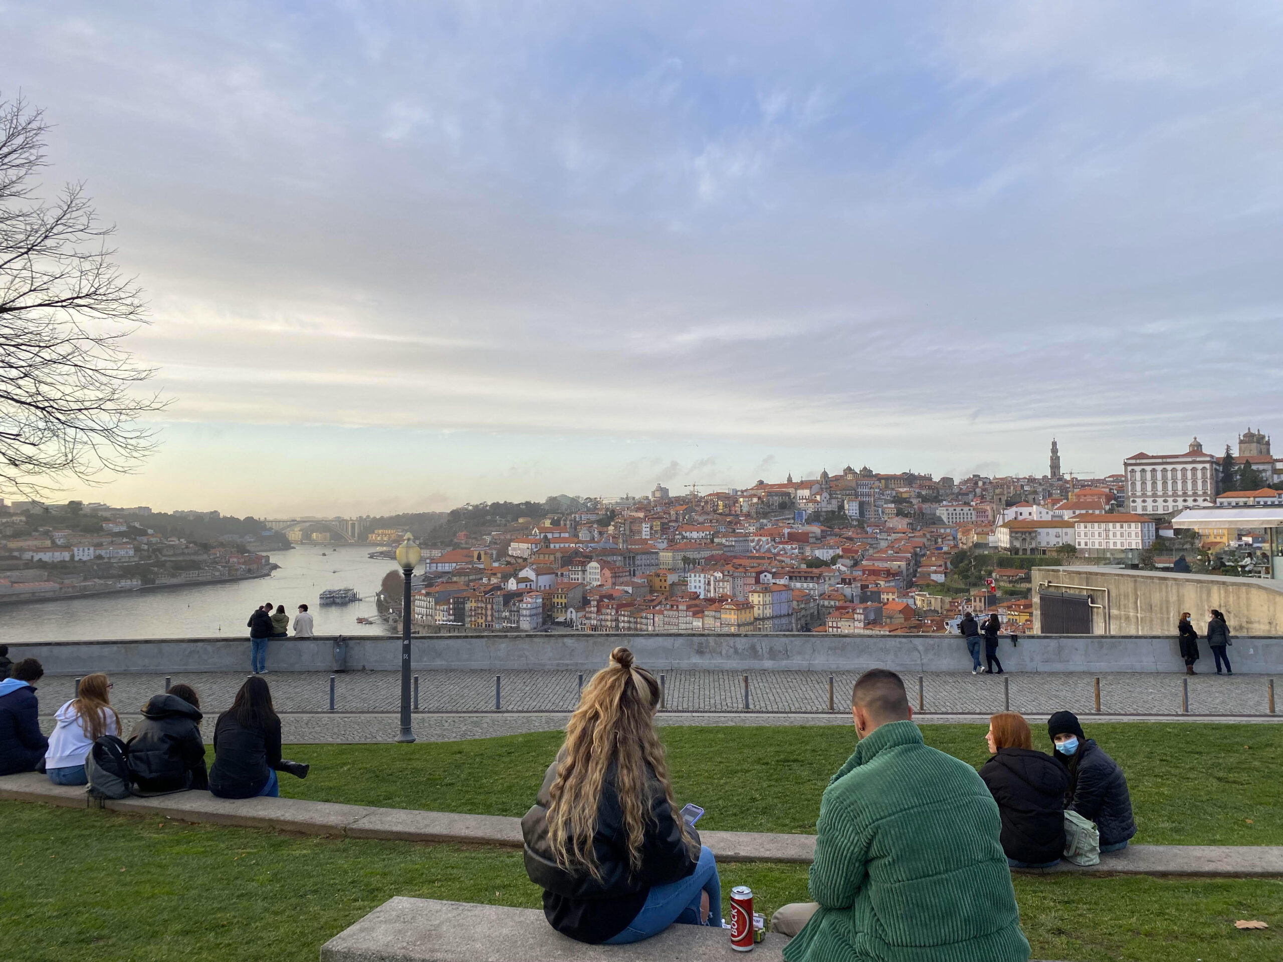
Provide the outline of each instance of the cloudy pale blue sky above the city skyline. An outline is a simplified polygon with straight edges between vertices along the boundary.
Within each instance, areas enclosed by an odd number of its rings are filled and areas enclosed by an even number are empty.
[[[1275,3],[12,3],[234,514],[1273,434]],[[1280,435],[1283,445],[1283,435]]]

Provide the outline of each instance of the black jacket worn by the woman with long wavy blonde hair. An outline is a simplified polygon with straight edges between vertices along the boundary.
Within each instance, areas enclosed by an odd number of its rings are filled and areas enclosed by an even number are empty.
[[[544,916],[553,929],[572,939],[602,943],[618,935],[636,918],[652,885],[667,885],[695,871],[698,849],[692,857],[681,838],[672,808],[663,786],[647,770],[647,790],[650,794],[650,816],[645,826],[642,850],[642,868],[634,877],[629,873],[627,831],[624,827],[624,809],[615,790],[616,767],[606,771],[602,797],[597,807],[597,834],[593,852],[600,870],[600,881],[588,870],[567,871],[557,865],[548,841],[549,789],[557,777],[557,762],[548,766],[544,784],[535,804],[521,820],[525,839],[526,875],[544,889]],[[688,829],[698,844],[699,835]]]

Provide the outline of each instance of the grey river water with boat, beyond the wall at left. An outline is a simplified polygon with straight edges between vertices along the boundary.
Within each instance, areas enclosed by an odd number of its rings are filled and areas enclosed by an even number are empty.
[[[305,545],[273,552],[280,564],[269,577],[219,585],[190,585],[58,602],[0,607],[0,643],[67,641],[113,637],[248,637],[245,622],[264,602],[284,604],[294,614],[307,604],[316,634],[370,634],[380,625],[358,625],[375,613],[375,594],[396,562],[373,561],[370,545]],[[323,555],[322,555],[323,553]],[[399,573],[399,572],[398,572]],[[354,587],[363,600],[321,605],[327,587]]]

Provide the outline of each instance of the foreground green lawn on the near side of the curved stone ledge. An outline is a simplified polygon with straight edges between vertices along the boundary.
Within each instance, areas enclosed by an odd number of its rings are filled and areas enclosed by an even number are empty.
[[[538,907],[513,850],[318,839],[0,802],[6,962],[314,962],[393,895]],[[767,912],[806,898],[806,867],[730,865]],[[1283,882],[1144,877],[1015,880],[1035,958],[1283,957]],[[1236,918],[1271,927],[1238,931]]]

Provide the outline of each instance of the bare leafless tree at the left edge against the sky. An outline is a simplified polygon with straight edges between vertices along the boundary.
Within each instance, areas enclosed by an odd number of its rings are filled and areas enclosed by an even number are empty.
[[[112,262],[83,183],[41,198],[44,112],[0,99],[0,491],[124,472],[154,445],[139,419],[163,407],[122,340],[146,323],[142,292]]]

